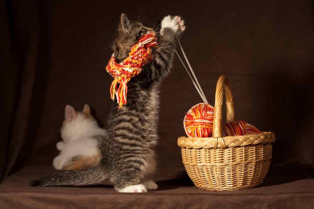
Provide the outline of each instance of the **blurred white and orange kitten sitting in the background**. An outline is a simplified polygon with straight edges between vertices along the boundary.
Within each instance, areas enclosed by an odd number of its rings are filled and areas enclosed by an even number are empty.
[[[60,154],[53,160],[55,169],[78,170],[98,165],[101,154],[97,138],[105,138],[106,131],[91,116],[88,105],[82,112],[70,105],[65,107],[61,137],[63,141],[57,143]]]

